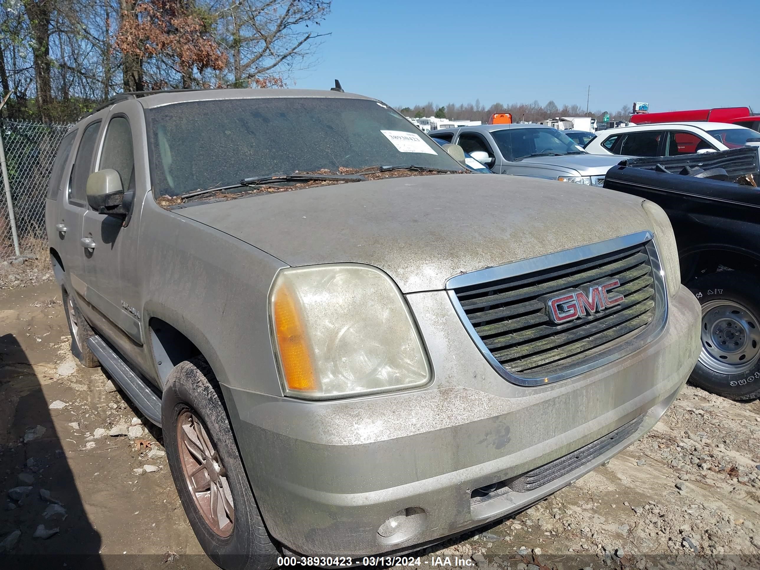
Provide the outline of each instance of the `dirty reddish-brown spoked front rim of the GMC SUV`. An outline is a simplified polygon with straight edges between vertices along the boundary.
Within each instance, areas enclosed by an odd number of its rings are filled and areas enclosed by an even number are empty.
[[[220,537],[235,526],[235,507],[222,460],[195,413],[185,410],[177,421],[179,459],[185,483],[204,520]]]

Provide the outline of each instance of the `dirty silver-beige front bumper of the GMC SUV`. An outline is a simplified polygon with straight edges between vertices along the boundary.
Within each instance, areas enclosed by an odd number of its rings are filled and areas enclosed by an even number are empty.
[[[407,299],[435,369],[426,388],[302,402],[223,387],[264,521],[296,552],[408,550],[520,511],[651,429],[700,350],[699,305],[681,287],[665,330],[641,350],[554,385],[524,388],[486,363],[444,292]],[[562,458],[639,416],[635,432],[563,477],[473,502],[474,489]],[[399,514],[401,531],[378,534]]]

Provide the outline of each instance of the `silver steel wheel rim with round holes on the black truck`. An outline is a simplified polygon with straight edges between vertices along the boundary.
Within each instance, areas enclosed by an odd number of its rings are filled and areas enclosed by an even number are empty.
[[[736,301],[715,299],[702,306],[699,362],[719,374],[741,374],[760,359],[760,321]]]

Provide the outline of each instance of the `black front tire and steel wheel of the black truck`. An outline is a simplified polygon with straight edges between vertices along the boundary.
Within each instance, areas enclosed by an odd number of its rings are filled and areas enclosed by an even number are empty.
[[[760,397],[757,278],[719,271],[697,277],[687,287],[702,306],[702,350],[690,381],[731,400]]]

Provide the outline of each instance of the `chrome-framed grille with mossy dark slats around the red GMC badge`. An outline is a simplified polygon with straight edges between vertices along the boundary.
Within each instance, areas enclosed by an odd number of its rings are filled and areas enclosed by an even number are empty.
[[[618,244],[624,246],[610,251]],[[473,274],[450,280],[451,299],[470,335],[506,378],[522,385],[555,382],[636,350],[663,327],[666,295],[651,234],[578,250],[483,270],[510,274],[501,279],[462,287],[457,281]],[[583,255],[586,250],[592,255]],[[593,255],[597,251],[602,253]],[[561,263],[566,258],[577,259]],[[523,266],[537,271],[516,274]],[[549,318],[547,297],[605,279],[619,280],[610,290],[625,296],[618,305],[561,324]]]

